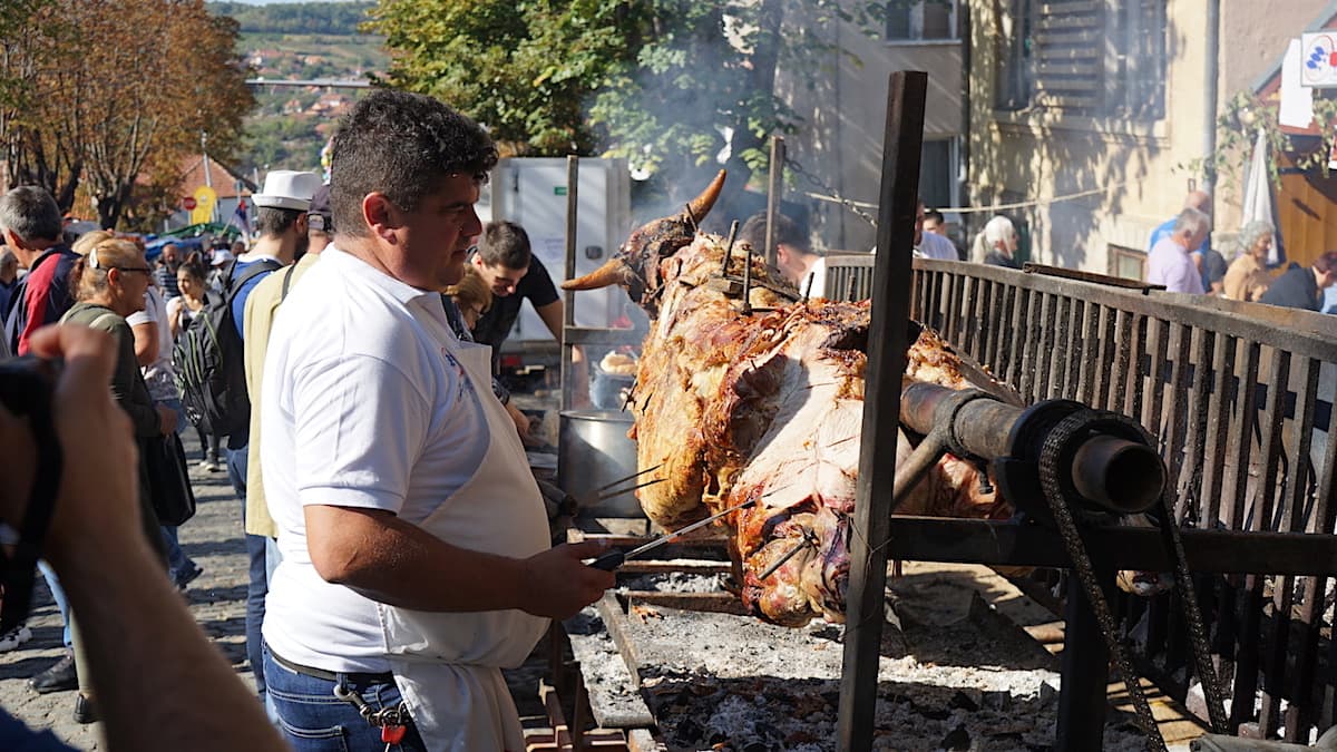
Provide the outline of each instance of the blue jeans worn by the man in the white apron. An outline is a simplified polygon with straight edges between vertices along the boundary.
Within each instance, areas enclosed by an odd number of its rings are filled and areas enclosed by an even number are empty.
[[[386,747],[381,729],[358,715],[357,708],[334,696],[334,682],[297,673],[278,665],[265,648],[265,676],[269,693],[278,709],[278,729],[295,752],[345,749],[396,749],[425,752],[417,728],[408,725],[400,744]],[[345,686],[362,696],[373,711],[392,708],[401,701],[393,681],[372,682],[345,678]]]

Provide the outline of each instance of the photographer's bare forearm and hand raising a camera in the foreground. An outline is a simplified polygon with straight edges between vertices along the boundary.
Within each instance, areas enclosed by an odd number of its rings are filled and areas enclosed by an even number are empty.
[[[111,337],[47,328],[32,337],[32,349],[66,361],[53,404],[67,463],[76,458],[76,467],[62,478],[47,558],[80,620],[98,625],[82,640],[108,748],[286,749],[144,541],[130,420],[107,392]],[[23,424],[0,409],[0,456],[16,460],[0,486],[0,516],[11,523],[27,503],[32,479],[21,475],[33,451]]]

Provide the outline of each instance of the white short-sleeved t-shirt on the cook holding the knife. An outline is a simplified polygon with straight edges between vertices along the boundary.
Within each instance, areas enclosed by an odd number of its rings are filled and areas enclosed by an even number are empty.
[[[265,613],[275,653],[332,672],[386,672],[376,603],[321,579],[302,507],[389,510],[418,523],[472,478],[487,417],[441,296],[333,246],[279,308],[265,356],[261,462],[283,555]],[[491,399],[491,395],[489,395]]]

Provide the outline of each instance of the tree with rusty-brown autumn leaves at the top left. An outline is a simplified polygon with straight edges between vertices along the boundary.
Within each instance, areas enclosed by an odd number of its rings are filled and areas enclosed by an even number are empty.
[[[237,150],[254,100],[235,21],[202,0],[25,1],[19,44],[33,72],[0,122],[9,185],[43,185],[64,209],[80,187],[112,227],[136,183],[142,199],[175,190],[202,134],[215,155]]]

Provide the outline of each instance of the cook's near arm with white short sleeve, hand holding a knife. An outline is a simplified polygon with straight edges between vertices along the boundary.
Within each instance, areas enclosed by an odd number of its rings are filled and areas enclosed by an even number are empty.
[[[612,586],[610,573],[580,563],[598,555],[598,545],[559,546],[521,561],[452,546],[396,516],[409,491],[413,458],[435,430],[432,415],[449,407],[433,405],[437,397],[421,392],[393,363],[365,355],[317,359],[285,377],[278,392],[271,393],[274,379],[269,381],[266,403],[283,400],[282,389],[289,389],[291,440],[303,447],[295,483],[306,547],[328,582],[417,610],[523,609],[559,617]],[[377,430],[384,426],[396,428]],[[460,423],[459,430],[468,426]],[[485,424],[472,430],[477,435],[460,436],[461,447],[488,440]],[[267,462],[269,452],[282,448],[266,439],[261,451]]]

